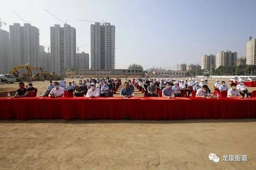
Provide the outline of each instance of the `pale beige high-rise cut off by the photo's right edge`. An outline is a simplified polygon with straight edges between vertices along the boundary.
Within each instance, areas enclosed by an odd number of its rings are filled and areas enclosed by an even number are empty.
[[[252,37],[246,43],[246,64],[256,65],[256,39]]]

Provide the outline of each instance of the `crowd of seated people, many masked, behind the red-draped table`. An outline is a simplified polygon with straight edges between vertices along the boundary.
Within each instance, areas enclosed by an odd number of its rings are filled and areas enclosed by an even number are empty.
[[[60,82],[49,81],[47,90],[44,96],[51,98],[58,98],[64,96],[65,93],[72,94],[75,97],[86,97],[96,98],[99,96],[108,97],[113,96],[121,84],[121,79],[111,78],[97,78],[97,79],[86,79],[79,80],[78,82],[66,82],[61,80]],[[175,97],[189,97],[190,94],[194,97],[211,98],[215,97],[216,94],[223,94],[222,91],[226,91],[227,97],[239,97],[243,98],[245,95],[252,96],[247,90],[246,86],[242,81],[238,85],[231,83],[230,88],[227,87],[226,82],[222,81],[219,84],[218,79],[215,80],[213,96],[210,95],[209,87],[205,84],[204,79],[200,82],[196,81],[195,78],[188,79],[155,79],[155,78],[137,78],[137,79],[125,79],[125,87],[121,89],[120,96],[124,98],[130,98],[134,96],[135,88],[141,91],[144,97],[158,97],[163,96],[166,98]],[[28,84],[25,88],[23,82],[19,83],[19,89],[16,91],[15,98],[29,96],[29,91],[36,92],[37,89],[33,87],[32,83]],[[66,92],[65,92],[66,91]],[[224,93],[224,94],[225,94]]]

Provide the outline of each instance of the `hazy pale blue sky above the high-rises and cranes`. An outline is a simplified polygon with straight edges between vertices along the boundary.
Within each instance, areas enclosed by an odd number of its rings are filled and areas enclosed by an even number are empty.
[[[23,26],[15,11],[39,28],[45,47],[50,26],[63,23],[43,8],[76,28],[79,45],[90,44],[91,23],[76,19],[110,22],[116,26],[116,68],[137,63],[176,69],[226,50],[241,57],[249,36],[256,38],[256,0],[0,0],[0,5],[2,21]],[[90,45],[81,51],[90,54]]]

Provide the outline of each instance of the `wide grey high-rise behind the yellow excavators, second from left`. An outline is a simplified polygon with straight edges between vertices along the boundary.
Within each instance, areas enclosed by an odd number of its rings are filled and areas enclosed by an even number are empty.
[[[38,66],[39,62],[39,29],[24,23],[14,23],[10,29],[10,67],[30,63]]]

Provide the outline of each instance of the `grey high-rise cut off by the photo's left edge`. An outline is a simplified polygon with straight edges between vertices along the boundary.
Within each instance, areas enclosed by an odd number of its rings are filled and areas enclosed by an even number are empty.
[[[0,73],[9,72],[9,57],[9,32],[0,29]]]

